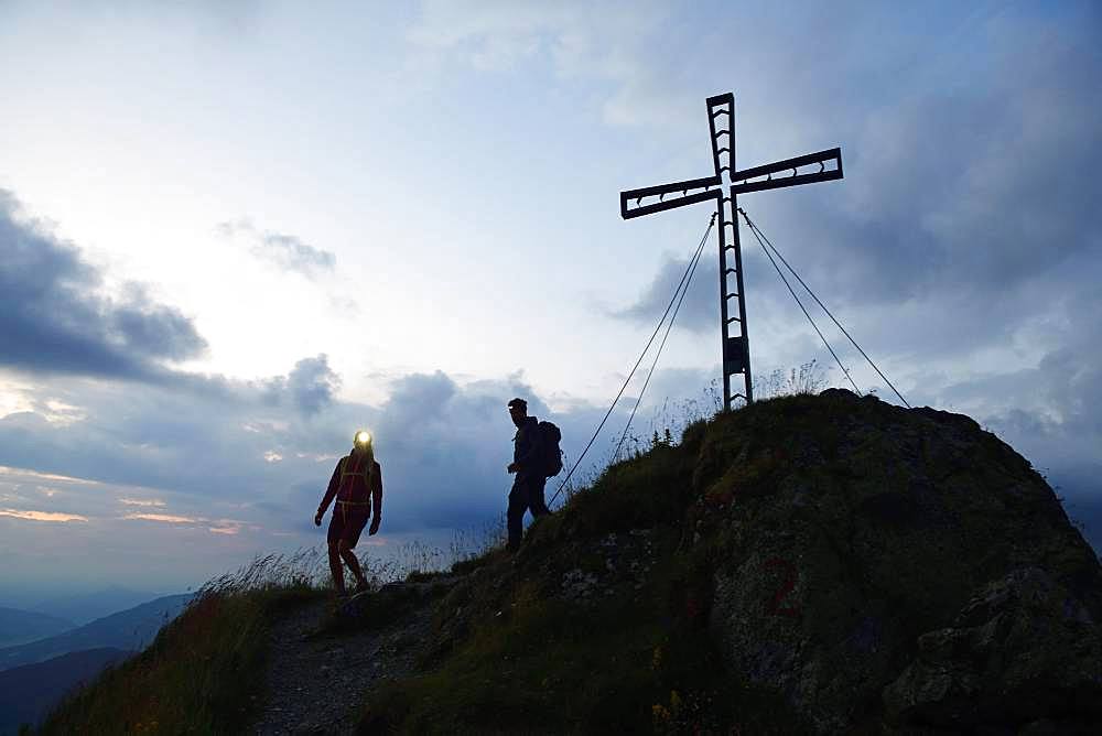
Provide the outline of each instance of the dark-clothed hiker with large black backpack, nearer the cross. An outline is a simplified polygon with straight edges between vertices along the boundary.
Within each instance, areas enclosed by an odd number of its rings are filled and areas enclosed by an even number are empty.
[[[548,477],[558,475],[562,469],[562,454],[559,451],[559,427],[529,416],[528,402],[523,399],[514,399],[508,405],[517,433],[512,437],[512,462],[506,468],[516,474],[506,511],[509,531],[506,549],[515,552],[523,537],[525,511],[531,511],[532,518],[551,513],[543,499],[543,486]]]

